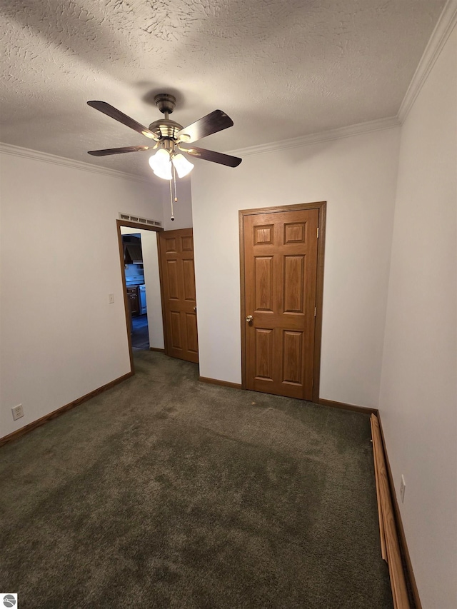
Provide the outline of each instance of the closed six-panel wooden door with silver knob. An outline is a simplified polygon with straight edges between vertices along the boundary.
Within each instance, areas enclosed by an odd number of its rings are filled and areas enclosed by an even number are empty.
[[[318,209],[244,216],[247,389],[313,397],[318,220]]]

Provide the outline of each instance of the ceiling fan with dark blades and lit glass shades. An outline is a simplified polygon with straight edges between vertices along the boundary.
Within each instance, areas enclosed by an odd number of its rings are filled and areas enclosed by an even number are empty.
[[[181,152],[196,158],[202,158],[204,161],[212,161],[213,163],[220,163],[229,167],[237,167],[241,163],[242,159],[238,158],[238,156],[231,156],[205,148],[197,148],[196,146],[186,146],[186,144],[191,144],[191,142],[231,127],[233,121],[225,112],[214,110],[198,121],[183,127],[179,123],[176,123],[176,121],[169,119],[169,115],[174,111],[176,106],[175,96],[162,93],[156,95],[154,101],[157,108],[164,114],[164,118],[154,121],[154,123],[149,125],[149,128],[137,123],[130,116],[107,104],[106,101],[88,101],[87,103],[92,108],[103,112],[106,116],[111,116],[111,119],[119,121],[119,123],[134,129],[139,134],[156,142],[154,146],[124,146],[124,148],[91,150],[89,154],[93,156],[107,156],[124,152],[159,149],[154,156],[151,156],[149,164],[154,173],[165,180],[171,180],[175,170],[178,176],[182,178],[194,168],[194,165]]]

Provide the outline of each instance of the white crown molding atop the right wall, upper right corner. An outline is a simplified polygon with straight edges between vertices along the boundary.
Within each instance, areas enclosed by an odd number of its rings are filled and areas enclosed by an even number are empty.
[[[424,82],[430,74],[436,59],[438,59],[443,46],[446,44],[448,37],[451,35],[457,23],[457,0],[448,0],[444,6],[443,12],[438,19],[438,23],[433,29],[430,40],[423,51],[421,61],[417,66],[413,79],[408,86],[408,91],[401,102],[398,110],[398,119],[403,124],[403,121],[408,116],[416,97],[421,91]]]

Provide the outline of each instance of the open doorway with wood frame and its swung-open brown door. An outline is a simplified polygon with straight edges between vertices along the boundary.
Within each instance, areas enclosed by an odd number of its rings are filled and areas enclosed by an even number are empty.
[[[163,231],[127,220],[116,224],[131,371],[134,349],[198,363],[192,228]]]

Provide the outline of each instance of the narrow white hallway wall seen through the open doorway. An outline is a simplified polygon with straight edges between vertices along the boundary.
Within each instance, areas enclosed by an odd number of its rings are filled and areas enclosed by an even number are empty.
[[[146,286],[149,346],[163,349],[165,346],[164,323],[162,321],[157,233],[154,231],[139,231],[138,228],[129,228],[128,226],[121,226],[121,233],[123,235],[139,234],[141,237],[144,284]]]

